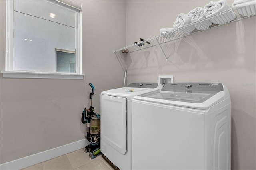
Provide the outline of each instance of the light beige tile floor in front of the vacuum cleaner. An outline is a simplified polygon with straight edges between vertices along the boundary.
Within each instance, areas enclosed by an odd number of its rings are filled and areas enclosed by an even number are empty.
[[[84,149],[29,166],[22,170],[114,170],[102,156],[89,158]]]

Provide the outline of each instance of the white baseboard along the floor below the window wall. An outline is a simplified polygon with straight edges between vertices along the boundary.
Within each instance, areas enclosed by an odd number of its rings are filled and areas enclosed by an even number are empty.
[[[46,150],[44,152],[26,156],[24,158],[6,162],[4,164],[0,164],[0,170],[20,170],[22,168],[26,168],[28,166],[32,166],[34,164],[38,164],[40,162],[44,162],[46,160],[50,160],[52,158],[56,158],[58,156],[62,156],[64,154],[68,154],[70,152],[84,148],[87,142],[88,141],[86,139],[83,139],[70,144],[59,146],[57,148]]]

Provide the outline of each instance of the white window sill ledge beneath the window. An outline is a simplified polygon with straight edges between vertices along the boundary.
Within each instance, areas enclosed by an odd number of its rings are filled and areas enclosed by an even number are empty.
[[[84,79],[84,74],[1,71],[3,78]]]

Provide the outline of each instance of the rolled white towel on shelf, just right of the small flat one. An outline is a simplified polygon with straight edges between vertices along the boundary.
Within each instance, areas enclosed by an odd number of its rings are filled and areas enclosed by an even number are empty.
[[[180,28],[182,26],[186,26],[187,24],[191,23],[191,18],[192,16],[188,16],[188,14],[179,14],[178,17],[176,18],[174,24],[173,24],[173,28],[177,29]],[[194,25],[191,26],[186,26],[182,29],[180,29],[180,31],[189,34],[190,32],[192,32],[196,27]]]

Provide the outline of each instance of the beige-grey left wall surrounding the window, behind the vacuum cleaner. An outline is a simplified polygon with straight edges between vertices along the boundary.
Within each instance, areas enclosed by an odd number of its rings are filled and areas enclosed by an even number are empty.
[[[100,113],[100,92],[122,87],[124,71],[112,50],[125,46],[125,1],[82,4],[83,80],[0,79],[1,164],[85,138],[81,123],[89,94]],[[1,71],[5,68],[5,1],[0,1]],[[113,78],[115,77],[115,79]]]

